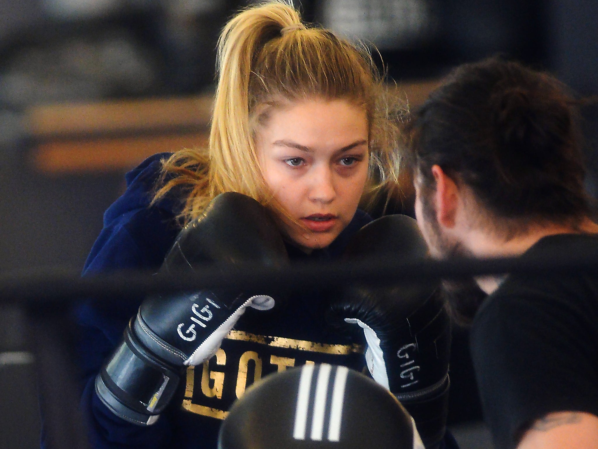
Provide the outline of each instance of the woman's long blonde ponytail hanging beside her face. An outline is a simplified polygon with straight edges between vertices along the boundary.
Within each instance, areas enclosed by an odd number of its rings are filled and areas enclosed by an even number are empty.
[[[281,2],[245,10],[222,30],[218,40],[218,87],[210,150],[211,162],[226,167],[228,176],[212,179],[215,192],[234,190],[266,201],[253,132],[249,128],[252,66],[265,41],[280,36],[286,26],[300,23],[297,11]]]

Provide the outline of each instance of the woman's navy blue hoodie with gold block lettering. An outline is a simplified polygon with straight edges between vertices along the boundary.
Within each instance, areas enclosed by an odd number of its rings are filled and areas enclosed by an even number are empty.
[[[118,269],[157,270],[180,230],[176,215],[182,192],[174,191],[149,207],[160,175],[160,160],[149,157],[126,175],[127,190],[106,210],[104,227],[91,248],[83,274]],[[178,195],[177,195],[178,193]],[[329,247],[307,256],[288,247],[292,259],[334,259],[370,216],[357,211],[352,222]],[[331,332],[324,320],[330,296],[314,290],[292,296],[270,311],[249,309],[203,366],[187,368],[178,392],[152,426],[121,420],[100,401],[94,378],[120,342],[130,317],[143,298],[122,298],[105,306],[89,300],[77,310],[81,328],[80,363],[84,391],[81,405],[89,421],[94,448],[215,449],[222,418],[246,387],[272,372],[304,363],[332,363],[362,371],[361,342]]]

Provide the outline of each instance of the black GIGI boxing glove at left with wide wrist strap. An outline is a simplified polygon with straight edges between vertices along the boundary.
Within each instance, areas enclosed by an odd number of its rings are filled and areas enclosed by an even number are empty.
[[[222,193],[176,238],[160,272],[206,263],[285,263],[285,245],[269,214],[240,193]],[[140,425],[155,423],[176,390],[182,369],[219,348],[246,307],[268,310],[269,295],[226,289],[151,295],[96,377],[96,393],[114,414]]]

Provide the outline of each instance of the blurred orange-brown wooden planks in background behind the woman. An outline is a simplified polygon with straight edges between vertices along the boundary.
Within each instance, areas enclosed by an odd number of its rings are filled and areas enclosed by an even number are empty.
[[[397,89],[413,108],[439,85],[423,80]],[[35,106],[25,117],[36,142],[30,160],[47,174],[114,172],[160,151],[205,147],[212,102],[202,95]]]

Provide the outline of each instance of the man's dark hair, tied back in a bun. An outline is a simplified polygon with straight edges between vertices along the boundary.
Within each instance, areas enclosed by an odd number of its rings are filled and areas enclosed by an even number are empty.
[[[588,211],[578,101],[550,74],[498,57],[459,66],[414,114],[426,182],[440,165],[496,216]]]

